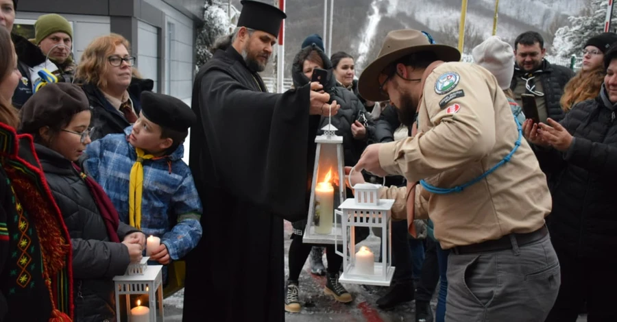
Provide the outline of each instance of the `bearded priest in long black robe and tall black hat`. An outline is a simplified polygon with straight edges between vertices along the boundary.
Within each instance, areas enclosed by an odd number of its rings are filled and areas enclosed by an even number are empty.
[[[339,109],[318,83],[267,93],[258,72],[285,13],[241,3],[231,44],[219,44],[193,86],[189,166],[204,234],[186,258],[186,322],[284,321],[283,219],[306,217],[309,138]]]

